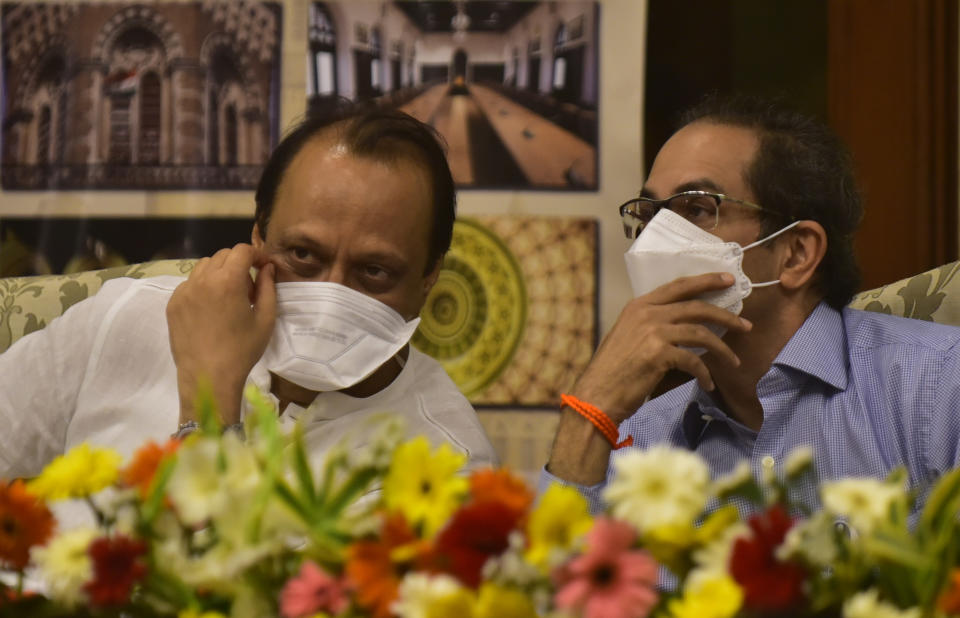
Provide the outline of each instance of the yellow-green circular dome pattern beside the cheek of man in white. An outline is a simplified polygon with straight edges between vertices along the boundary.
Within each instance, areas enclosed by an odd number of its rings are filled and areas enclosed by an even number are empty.
[[[517,260],[489,229],[460,219],[413,344],[443,365],[468,397],[510,363],[527,316]]]

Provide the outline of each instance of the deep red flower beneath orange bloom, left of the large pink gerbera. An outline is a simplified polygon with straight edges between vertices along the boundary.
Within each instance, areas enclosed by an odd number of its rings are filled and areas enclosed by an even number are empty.
[[[484,563],[507,549],[507,537],[522,515],[523,511],[502,502],[461,507],[437,537],[434,567],[476,588]]]

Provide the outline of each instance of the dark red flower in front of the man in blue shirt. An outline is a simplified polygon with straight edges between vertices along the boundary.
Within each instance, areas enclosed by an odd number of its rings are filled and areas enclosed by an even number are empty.
[[[750,538],[737,539],[730,557],[730,574],[743,588],[744,606],[757,611],[778,611],[796,606],[803,598],[805,572],[798,564],[780,562],[774,552],[793,520],[783,506],[749,520]]]

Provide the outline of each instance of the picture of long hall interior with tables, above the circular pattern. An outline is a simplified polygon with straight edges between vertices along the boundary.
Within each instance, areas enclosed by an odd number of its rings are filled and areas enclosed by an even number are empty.
[[[597,189],[599,3],[312,2],[307,100],[398,107],[461,188]]]

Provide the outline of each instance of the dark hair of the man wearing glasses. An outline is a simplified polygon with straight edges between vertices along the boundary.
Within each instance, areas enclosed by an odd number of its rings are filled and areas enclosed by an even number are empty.
[[[817,286],[832,307],[846,306],[860,286],[853,234],[863,205],[850,155],[836,134],[779,100],[747,95],[710,94],[681,116],[680,126],[693,122],[731,125],[757,134],[757,154],[744,178],[757,202],[774,211],[761,213],[762,234],[784,225],[775,213],[822,225],[827,251],[817,267]]]

